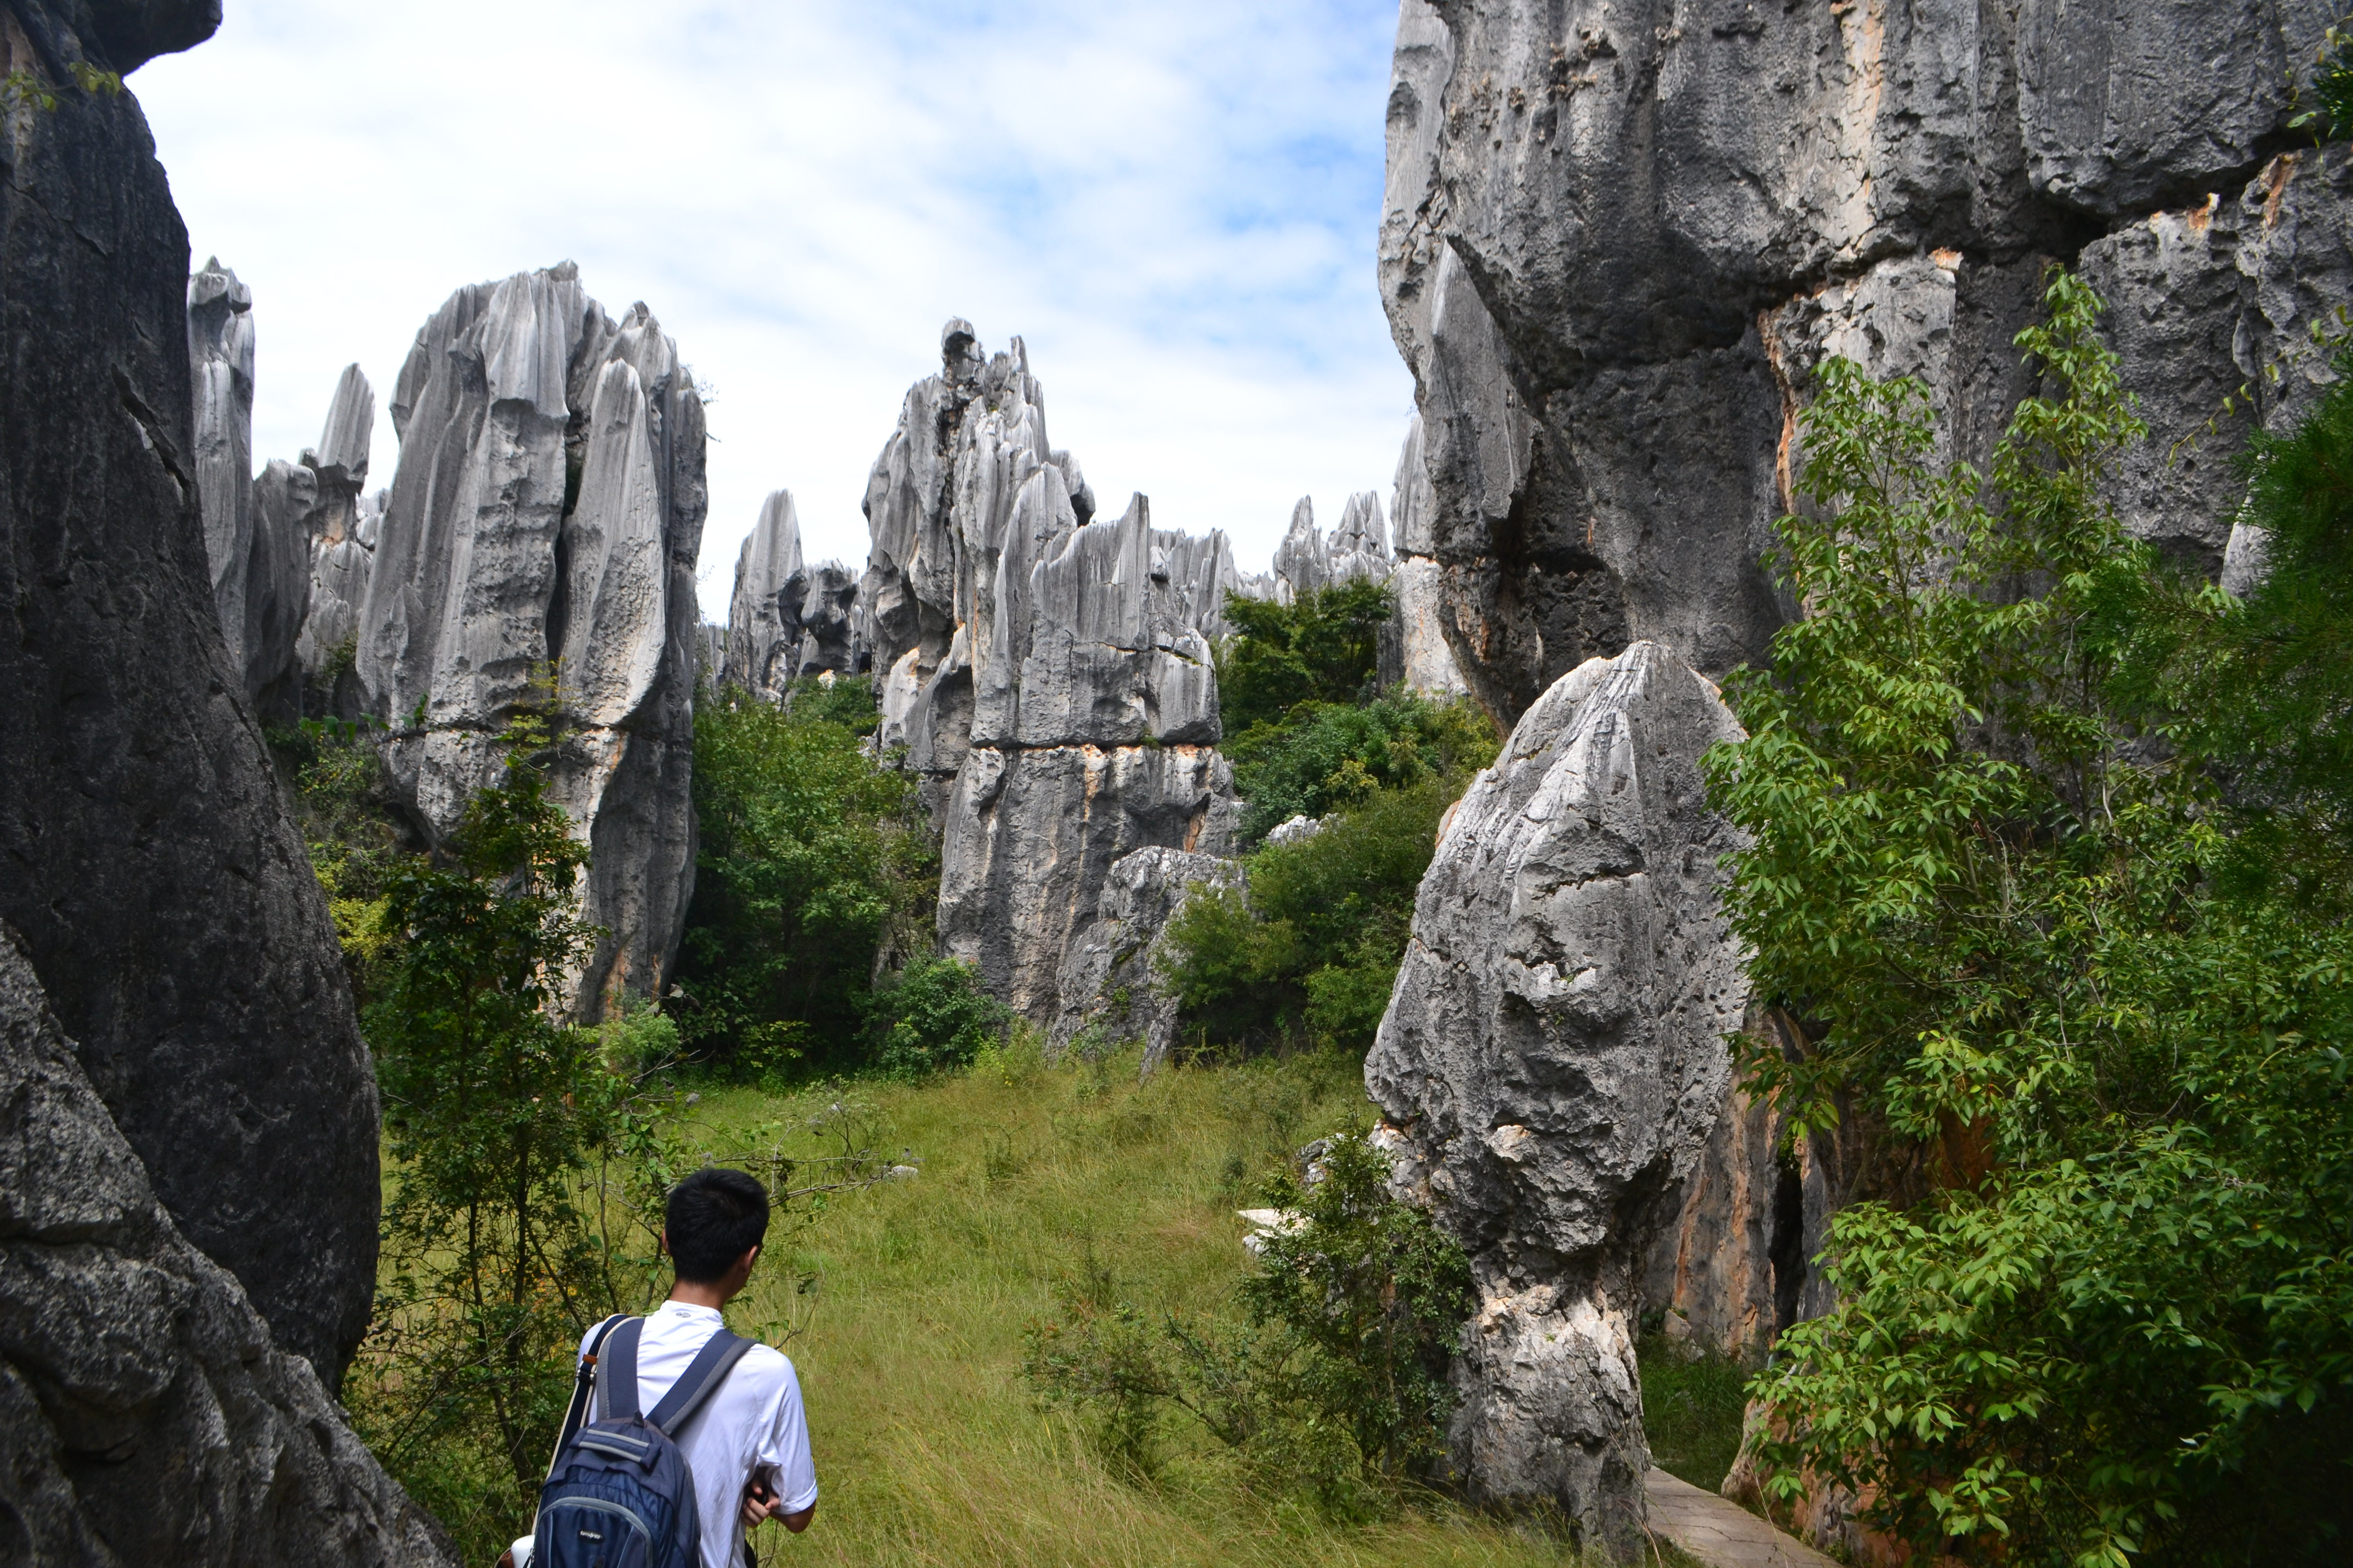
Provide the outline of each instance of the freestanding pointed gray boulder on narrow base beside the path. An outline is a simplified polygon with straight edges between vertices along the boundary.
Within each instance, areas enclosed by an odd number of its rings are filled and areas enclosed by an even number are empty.
[[[1454,809],[1365,1086],[1398,1180],[1471,1255],[1454,1467],[1631,1559],[1642,1265],[1725,1103],[1748,1013],[1699,755],[1739,738],[1654,642],[1579,665]]]

